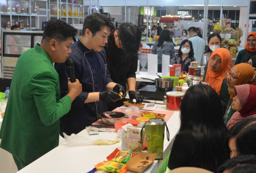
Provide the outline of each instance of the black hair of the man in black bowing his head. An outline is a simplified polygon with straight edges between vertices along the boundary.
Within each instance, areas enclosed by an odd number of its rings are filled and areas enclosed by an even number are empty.
[[[136,54],[140,48],[140,28],[131,23],[122,23],[118,27],[117,33],[124,50],[130,55]]]

